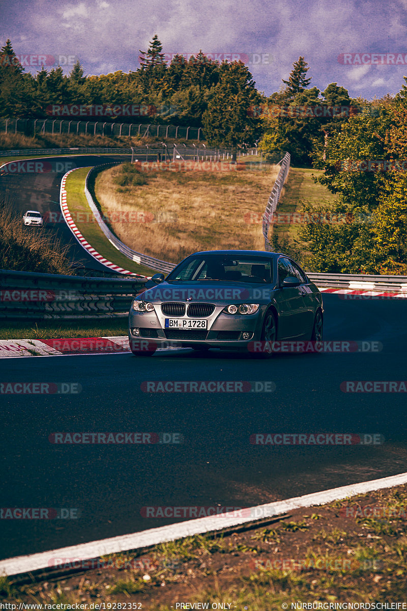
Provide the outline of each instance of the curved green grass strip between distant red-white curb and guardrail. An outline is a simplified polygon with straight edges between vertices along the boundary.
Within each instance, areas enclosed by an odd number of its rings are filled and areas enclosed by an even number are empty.
[[[119,252],[100,229],[93,216],[92,210],[88,206],[85,197],[85,178],[90,167],[81,167],[67,177],[65,189],[67,190],[68,210],[79,231],[93,248],[103,255],[106,259],[124,269],[129,269],[143,276],[151,276],[156,270],[139,265]]]

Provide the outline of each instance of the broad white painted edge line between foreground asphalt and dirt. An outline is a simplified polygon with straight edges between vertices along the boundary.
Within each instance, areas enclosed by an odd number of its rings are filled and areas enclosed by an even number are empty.
[[[170,524],[161,526],[156,529],[142,530],[138,533],[130,535],[120,535],[110,537],[109,539],[101,539],[99,541],[90,541],[89,543],[81,543],[70,547],[62,547],[40,554],[31,554],[25,556],[17,556],[15,558],[7,558],[0,561],[1,575],[18,575],[21,573],[29,573],[40,569],[51,568],[61,563],[63,558],[72,561],[75,560],[91,560],[99,558],[107,554],[118,554],[130,550],[142,549],[151,547],[165,541],[175,541],[186,536],[202,535],[204,533],[215,532],[256,522],[253,516],[265,516],[272,518],[288,511],[293,511],[301,507],[314,507],[315,505],[326,505],[335,500],[346,499],[347,497],[355,496],[356,494],[366,494],[383,488],[392,488],[407,483],[407,473],[392,475],[378,480],[363,481],[350,486],[340,486],[340,488],[332,488],[322,492],[313,492],[305,494],[301,497],[293,497],[292,499],[278,500],[274,503],[265,503],[256,507],[247,507],[243,510],[234,511],[233,513],[219,514],[218,516],[207,516],[206,518],[198,518],[178,524]],[[240,515],[236,515],[240,514]]]

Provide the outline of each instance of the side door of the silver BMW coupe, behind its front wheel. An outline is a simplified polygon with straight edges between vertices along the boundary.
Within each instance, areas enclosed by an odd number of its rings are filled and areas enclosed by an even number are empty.
[[[277,262],[278,291],[276,302],[279,309],[278,338],[299,337],[304,334],[306,307],[301,284],[298,287],[283,287],[283,280],[288,276],[297,277],[292,262],[287,257],[280,257]]]

